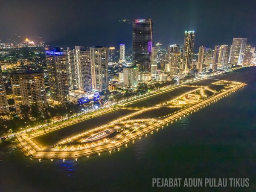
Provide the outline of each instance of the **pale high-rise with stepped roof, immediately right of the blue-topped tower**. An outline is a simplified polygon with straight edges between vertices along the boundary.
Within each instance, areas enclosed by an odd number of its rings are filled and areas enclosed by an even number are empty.
[[[80,46],[75,49],[64,50],[67,64],[67,79],[71,89],[91,92],[92,77],[90,64],[90,51],[82,50]]]

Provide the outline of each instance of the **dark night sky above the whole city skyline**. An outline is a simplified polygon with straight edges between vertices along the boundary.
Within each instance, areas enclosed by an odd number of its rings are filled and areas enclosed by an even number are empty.
[[[139,18],[153,20],[153,44],[183,47],[184,31],[195,30],[195,49],[230,45],[234,37],[256,45],[255,0],[0,0],[0,40],[20,35],[17,41],[43,39],[51,46],[124,43],[129,50],[131,24],[119,20]]]

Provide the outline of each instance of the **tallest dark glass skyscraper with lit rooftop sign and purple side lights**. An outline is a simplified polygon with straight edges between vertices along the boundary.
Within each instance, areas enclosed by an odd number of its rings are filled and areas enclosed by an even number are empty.
[[[152,20],[132,21],[133,66],[138,68],[139,81],[151,79]]]

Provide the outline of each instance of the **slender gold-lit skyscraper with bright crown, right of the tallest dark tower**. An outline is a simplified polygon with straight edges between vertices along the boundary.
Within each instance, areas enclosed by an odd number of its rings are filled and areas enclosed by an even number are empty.
[[[191,69],[192,55],[195,44],[195,31],[185,31],[184,47],[183,47],[183,59],[182,70],[184,74],[187,74]]]

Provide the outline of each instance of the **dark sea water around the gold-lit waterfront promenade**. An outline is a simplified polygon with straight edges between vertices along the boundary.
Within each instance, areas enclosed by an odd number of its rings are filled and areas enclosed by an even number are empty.
[[[256,67],[218,78],[248,85],[111,155],[39,163],[2,147],[0,192],[256,192]],[[249,178],[250,187],[153,188],[156,177]]]

